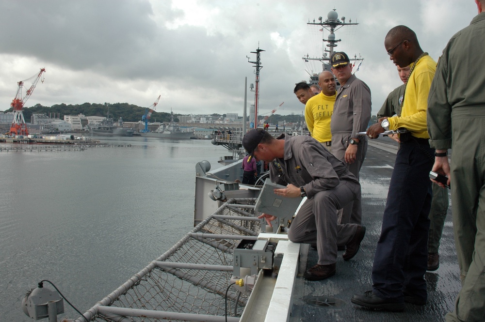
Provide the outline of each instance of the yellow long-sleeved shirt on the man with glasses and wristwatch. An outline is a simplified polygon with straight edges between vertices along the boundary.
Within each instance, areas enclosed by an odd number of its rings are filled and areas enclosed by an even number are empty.
[[[416,138],[429,138],[426,109],[435,71],[436,61],[429,56],[424,56],[416,63],[416,67],[407,80],[401,116],[388,118],[390,130],[405,127]]]

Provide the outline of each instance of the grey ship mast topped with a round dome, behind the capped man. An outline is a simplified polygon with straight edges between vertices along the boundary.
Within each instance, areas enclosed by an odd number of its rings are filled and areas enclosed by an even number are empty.
[[[322,57],[320,58],[312,58],[307,56],[302,57],[304,61],[321,61],[322,62],[322,71],[328,70],[330,71],[330,57],[332,56],[334,52],[334,47],[337,47],[337,43],[342,41],[341,39],[336,39],[335,37],[335,31],[339,30],[343,26],[350,26],[350,25],[358,25],[356,22],[352,22],[352,19],[349,19],[349,22],[345,22],[345,17],[341,17],[341,20],[339,19],[339,14],[337,14],[336,9],[333,9],[330,11],[327,15],[327,19],[323,21],[323,18],[320,16],[318,17],[318,21],[315,21],[313,19],[313,22],[308,21],[307,25],[316,25],[316,26],[321,26],[322,29],[322,42],[323,42],[323,54]],[[323,36],[323,29],[327,30],[330,32],[328,35],[327,39]],[[328,49],[325,48],[324,43],[327,42],[326,46]],[[364,59],[359,55],[354,55],[354,58],[350,59],[351,61],[363,61]],[[355,65],[355,63],[354,63]],[[310,74],[310,83],[311,84],[316,84],[318,83],[318,74],[317,75],[311,75]]]

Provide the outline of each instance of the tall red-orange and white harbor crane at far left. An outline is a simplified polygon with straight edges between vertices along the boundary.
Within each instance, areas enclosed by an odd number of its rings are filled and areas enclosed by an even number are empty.
[[[25,123],[24,115],[22,114],[22,108],[24,107],[25,102],[27,102],[29,97],[32,95],[32,92],[35,89],[35,86],[37,85],[39,79],[42,78],[42,82],[44,82],[43,74],[45,72],[46,69],[41,68],[38,74],[35,74],[30,78],[17,82],[17,93],[12,103],[10,104],[11,107],[14,107],[14,120],[12,121],[12,125],[10,126],[11,135],[29,135],[29,131],[27,130],[27,124]],[[22,88],[24,87],[24,82],[31,79],[34,79],[32,85],[25,93],[25,96],[22,98]]]

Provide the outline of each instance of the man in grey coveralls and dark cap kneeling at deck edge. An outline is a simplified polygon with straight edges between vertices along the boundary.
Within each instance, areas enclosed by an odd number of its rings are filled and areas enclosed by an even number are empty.
[[[256,160],[270,163],[270,179],[285,189],[279,196],[307,197],[291,223],[288,237],[295,243],[317,245],[318,263],[304,277],[321,280],[335,275],[337,246],[346,246],[342,257],[353,258],[365,235],[365,227],[337,223],[337,210],[360,200],[360,184],[342,161],[308,136],[278,138],[263,129],[252,129],[242,138],[244,149]],[[262,214],[268,224],[275,216]]]

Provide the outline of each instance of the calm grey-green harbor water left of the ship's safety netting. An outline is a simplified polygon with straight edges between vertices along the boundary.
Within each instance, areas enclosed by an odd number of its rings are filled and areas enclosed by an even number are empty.
[[[33,321],[21,301],[43,279],[81,312],[95,305],[192,228],[195,164],[229,154],[210,140],[97,138],[109,146],[0,152],[0,321]],[[64,306],[59,320],[79,316]]]

